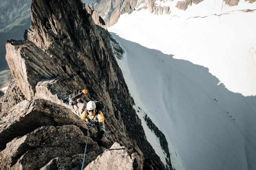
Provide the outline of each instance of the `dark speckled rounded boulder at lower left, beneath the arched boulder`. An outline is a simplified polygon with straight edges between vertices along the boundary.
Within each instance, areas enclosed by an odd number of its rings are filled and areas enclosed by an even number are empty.
[[[75,125],[43,126],[23,136],[14,138],[0,152],[1,169],[39,169],[55,157],[72,157],[84,152],[86,137]],[[99,152],[92,139],[88,141],[88,152]],[[79,159],[81,161],[81,159]],[[76,165],[80,164],[76,161]],[[70,165],[70,164],[69,164]],[[72,164],[71,164],[72,165]]]

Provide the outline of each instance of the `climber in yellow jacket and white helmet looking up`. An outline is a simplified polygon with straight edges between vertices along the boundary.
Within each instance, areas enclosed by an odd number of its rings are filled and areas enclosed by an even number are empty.
[[[95,102],[88,102],[80,117],[87,125],[99,126],[98,139],[100,140],[105,133],[104,116],[100,110],[97,110]]]

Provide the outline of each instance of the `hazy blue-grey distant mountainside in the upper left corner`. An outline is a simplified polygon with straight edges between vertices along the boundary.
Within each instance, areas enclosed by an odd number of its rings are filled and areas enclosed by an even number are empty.
[[[7,39],[23,39],[31,22],[31,0],[0,0],[0,71],[8,69],[5,60]]]

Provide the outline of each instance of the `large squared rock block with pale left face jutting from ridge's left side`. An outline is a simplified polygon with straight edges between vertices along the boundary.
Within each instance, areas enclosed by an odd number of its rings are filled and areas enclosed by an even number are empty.
[[[49,60],[46,52],[30,41],[8,40],[6,49],[6,60],[12,75],[28,100],[34,98],[38,81],[57,77],[58,70],[62,69],[53,60]],[[38,55],[42,57],[36,57]]]

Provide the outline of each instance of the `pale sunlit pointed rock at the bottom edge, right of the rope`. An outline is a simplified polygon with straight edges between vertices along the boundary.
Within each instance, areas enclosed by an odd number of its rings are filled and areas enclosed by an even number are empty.
[[[116,159],[119,158],[119,159]],[[137,169],[138,163],[134,155],[129,155],[124,146],[114,143],[109,149],[99,155],[94,161],[87,165],[84,170],[92,169],[122,169],[132,170]],[[139,169],[142,169],[140,167]]]

